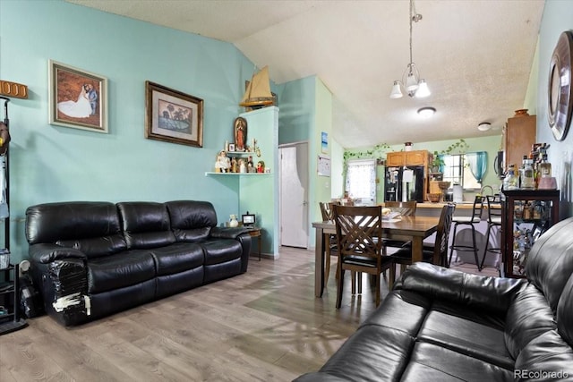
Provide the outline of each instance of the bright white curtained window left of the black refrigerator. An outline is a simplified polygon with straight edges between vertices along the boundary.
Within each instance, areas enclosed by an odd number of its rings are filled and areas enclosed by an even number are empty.
[[[376,201],[376,161],[350,160],[346,170],[346,191],[353,199]]]

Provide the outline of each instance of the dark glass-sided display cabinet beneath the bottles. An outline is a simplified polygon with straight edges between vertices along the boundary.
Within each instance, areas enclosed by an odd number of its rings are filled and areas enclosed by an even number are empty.
[[[501,191],[500,276],[526,276],[529,250],[559,221],[559,195],[559,190]]]

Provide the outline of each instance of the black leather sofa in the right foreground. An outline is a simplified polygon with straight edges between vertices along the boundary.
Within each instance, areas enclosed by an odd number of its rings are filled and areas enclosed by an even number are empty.
[[[573,217],[535,242],[526,279],[408,267],[308,381],[573,380]]]

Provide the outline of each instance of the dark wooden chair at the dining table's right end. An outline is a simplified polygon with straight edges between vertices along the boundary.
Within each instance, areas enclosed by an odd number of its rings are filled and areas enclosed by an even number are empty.
[[[422,250],[422,259],[425,262],[433,263],[434,255],[440,259],[440,266],[446,267],[448,262],[448,241],[449,241],[449,229],[451,227],[452,218],[454,216],[454,210],[456,205],[454,203],[448,203],[441,208],[440,220],[438,221],[438,227],[436,228],[436,240],[433,247],[424,246]],[[392,266],[389,271],[389,290],[392,290],[394,283],[396,281],[396,266],[409,266],[412,264],[412,246],[404,246],[388,256],[392,259]]]

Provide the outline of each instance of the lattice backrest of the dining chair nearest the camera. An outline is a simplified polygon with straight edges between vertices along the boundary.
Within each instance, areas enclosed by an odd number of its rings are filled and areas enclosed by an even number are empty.
[[[382,208],[380,206],[333,206],[340,256],[380,258]]]

